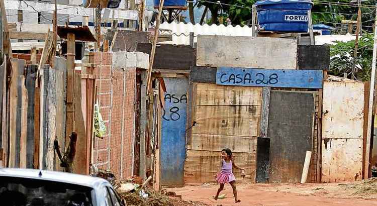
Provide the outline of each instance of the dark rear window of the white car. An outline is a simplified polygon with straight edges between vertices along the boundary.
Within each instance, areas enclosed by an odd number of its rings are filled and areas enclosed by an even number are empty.
[[[2,205],[91,206],[92,188],[64,182],[20,177],[0,177]]]

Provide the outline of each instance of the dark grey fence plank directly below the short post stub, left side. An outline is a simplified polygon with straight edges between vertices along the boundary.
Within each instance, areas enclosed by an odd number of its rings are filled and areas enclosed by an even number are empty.
[[[27,146],[26,146],[26,167],[33,168],[34,160],[34,124],[35,124],[35,80],[37,66],[28,65],[26,73],[26,89],[28,91],[28,115],[27,115]]]

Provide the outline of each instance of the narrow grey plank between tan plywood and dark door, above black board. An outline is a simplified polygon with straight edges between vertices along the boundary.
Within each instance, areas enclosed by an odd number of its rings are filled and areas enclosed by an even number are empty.
[[[260,133],[261,137],[268,137],[268,113],[269,113],[269,100],[270,100],[270,87],[263,87],[262,91],[262,114],[260,117]]]

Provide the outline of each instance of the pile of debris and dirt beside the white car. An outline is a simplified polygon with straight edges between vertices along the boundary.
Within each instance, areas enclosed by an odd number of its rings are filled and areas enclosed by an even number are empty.
[[[126,181],[119,181],[110,171],[100,169],[92,176],[108,180],[116,189],[122,205],[207,205],[202,202],[184,201],[175,195],[175,192],[167,192],[166,190],[156,192],[153,189],[149,189],[147,184],[152,179],[151,176],[144,182],[138,176],[133,176]]]

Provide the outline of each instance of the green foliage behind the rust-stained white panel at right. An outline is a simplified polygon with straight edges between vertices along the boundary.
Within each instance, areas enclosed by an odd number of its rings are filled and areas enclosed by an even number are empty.
[[[353,61],[358,68],[356,77],[362,81],[370,80],[370,71],[373,57],[373,35],[364,34],[359,39],[357,56],[354,59],[355,41],[336,42],[330,47],[330,71],[332,75],[343,76],[343,73],[350,73],[353,68]]]

